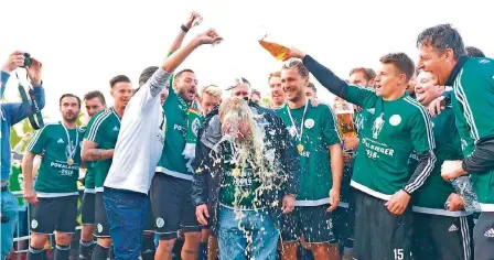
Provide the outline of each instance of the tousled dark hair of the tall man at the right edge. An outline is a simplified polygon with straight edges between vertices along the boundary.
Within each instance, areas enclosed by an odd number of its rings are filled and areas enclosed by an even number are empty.
[[[417,37],[417,47],[430,45],[444,53],[447,48],[453,50],[454,59],[466,56],[465,45],[457,29],[451,24],[439,24],[423,30]]]

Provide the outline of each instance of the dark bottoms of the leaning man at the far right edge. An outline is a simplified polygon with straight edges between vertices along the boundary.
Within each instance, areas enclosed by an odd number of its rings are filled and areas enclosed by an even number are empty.
[[[475,260],[494,259],[494,213],[482,213],[473,229]]]

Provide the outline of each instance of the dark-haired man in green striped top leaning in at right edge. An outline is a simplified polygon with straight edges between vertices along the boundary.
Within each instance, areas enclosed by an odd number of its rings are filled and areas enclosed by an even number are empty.
[[[473,232],[475,259],[494,259],[494,59],[468,57],[460,33],[450,24],[426,29],[417,39],[419,69],[452,86],[463,160],[444,161],[441,175],[454,180],[470,174],[481,216]]]

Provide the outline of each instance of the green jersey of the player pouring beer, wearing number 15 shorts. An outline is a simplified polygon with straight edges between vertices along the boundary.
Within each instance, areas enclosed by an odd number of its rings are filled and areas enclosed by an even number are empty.
[[[378,97],[374,89],[348,86],[346,100],[362,107],[359,144],[351,185],[388,201],[401,188],[409,193],[428,177],[433,158],[414,182],[408,183],[408,158],[414,151],[434,148],[432,126],[427,110],[408,94],[393,101]]]

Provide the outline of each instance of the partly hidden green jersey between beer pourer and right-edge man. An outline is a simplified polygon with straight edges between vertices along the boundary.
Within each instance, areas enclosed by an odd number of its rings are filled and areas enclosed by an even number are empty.
[[[448,197],[455,191],[451,183],[441,177],[441,165],[447,160],[463,159],[453,109],[447,107],[439,116],[432,118],[432,128],[436,139],[434,154],[438,160],[427,182],[414,194],[414,212],[451,217],[470,215],[464,210],[444,210]],[[417,165],[417,155],[410,159]],[[415,167],[410,167],[410,174],[414,170]]]

